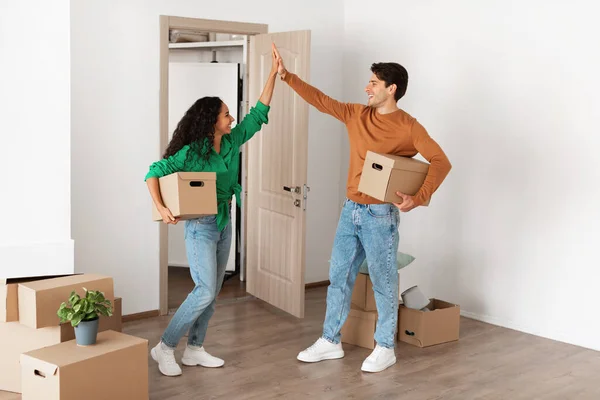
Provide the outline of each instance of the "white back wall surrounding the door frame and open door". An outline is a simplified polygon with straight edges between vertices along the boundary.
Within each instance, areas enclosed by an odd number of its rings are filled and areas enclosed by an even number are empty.
[[[125,314],[159,308],[158,225],[150,220],[143,182],[160,154],[159,15],[266,23],[271,32],[311,29],[312,83],[339,98],[342,4],[311,0],[289,13],[275,0],[236,0],[227,7],[192,0],[71,3],[76,266],[114,276]],[[341,134],[339,123],[311,110],[307,282],[328,276]]]

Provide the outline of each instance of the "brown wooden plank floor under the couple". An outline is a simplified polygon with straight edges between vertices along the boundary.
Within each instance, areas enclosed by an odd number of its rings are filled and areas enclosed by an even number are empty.
[[[469,319],[458,342],[426,349],[399,343],[398,363],[379,374],[362,373],[370,350],[349,345],[342,360],[301,363],[298,351],[321,332],[324,299],[325,288],[308,290],[302,320],[259,300],[219,299],[205,346],[225,367],[183,367],[182,376],[169,378],[149,357],[150,398],[600,399],[600,353]],[[169,319],[129,322],[124,331],[154,346]]]

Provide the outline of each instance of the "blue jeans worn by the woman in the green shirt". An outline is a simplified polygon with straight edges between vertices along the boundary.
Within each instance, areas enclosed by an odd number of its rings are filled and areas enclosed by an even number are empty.
[[[162,342],[171,348],[177,347],[186,332],[189,345],[200,347],[204,343],[208,321],[215,312],[215,299],[225,278],[231,224],[220,232],[215,215],[185,221],[185,247],[196,286],[162,336]]]

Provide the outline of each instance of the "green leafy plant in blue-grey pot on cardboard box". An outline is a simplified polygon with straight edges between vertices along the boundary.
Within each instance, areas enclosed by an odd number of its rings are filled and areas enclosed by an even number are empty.
[[[100,315],[111,317],[113,308],[104,293],[95,290],[85,290],[85,297],[80,297],[75,291],[69,296],[69,304],[63,302],[56,312],[60,322],[70,322],[75,329],[75,340],[80,346],[90,346],[96,343],[98,337],[98,320]]]

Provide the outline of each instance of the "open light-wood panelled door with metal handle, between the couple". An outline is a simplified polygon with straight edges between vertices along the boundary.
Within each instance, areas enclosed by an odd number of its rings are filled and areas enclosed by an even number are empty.
[[[251,104],[271,69],[271,42],[286,68],[309,80],[310,31],[252,36]],[[246,290],[299,318],[304,317],[307,160],[308,104],[279,81],[269,123],[248,143]]]

